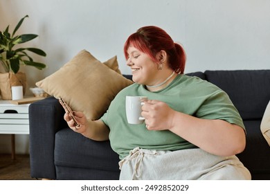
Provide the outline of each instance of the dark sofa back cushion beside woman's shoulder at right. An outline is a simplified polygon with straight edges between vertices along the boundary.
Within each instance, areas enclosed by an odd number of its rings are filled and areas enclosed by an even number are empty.
[[[270,99],[270,70],[205,71],[206,80],[220,87],[243,120],[262,119]]]

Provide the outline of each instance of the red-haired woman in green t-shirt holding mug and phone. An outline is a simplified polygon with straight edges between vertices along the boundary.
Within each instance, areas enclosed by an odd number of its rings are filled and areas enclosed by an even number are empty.
[[[251,179],[235,157],[245,148],[245,129],[226,93],[204,80],[183,74],[181,45],[156,26],[129,36],[124,46],[133,85],[111,102],[99,121],[68,114],[72,130],[90,139],[110,139],[120,156],[120,179]],[[125,96],[147,96],[145,123],[130,125]],[[117,122],[116,122],[117,121]]]

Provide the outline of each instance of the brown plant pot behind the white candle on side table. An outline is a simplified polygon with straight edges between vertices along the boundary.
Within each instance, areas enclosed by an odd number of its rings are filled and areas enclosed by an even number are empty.
[[[26,94],[26,73],[0,73],[0,91],[2,100],[12,100],[11,87],[22,85]]]

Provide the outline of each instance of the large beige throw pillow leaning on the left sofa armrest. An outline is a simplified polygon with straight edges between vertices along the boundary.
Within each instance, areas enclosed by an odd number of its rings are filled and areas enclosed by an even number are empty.
[[[116,57],[105,63],[118,73],[83,50],[36,85],[55,98],[61,96],[74,111],[96,120],[107,111],[116,94],[133,83],[120,75]]]

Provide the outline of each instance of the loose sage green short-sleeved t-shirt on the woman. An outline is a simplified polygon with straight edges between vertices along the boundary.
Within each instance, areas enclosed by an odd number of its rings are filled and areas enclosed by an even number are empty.
[[[244,128],[242,118],[228,95],[217,86],[197,77],[178,75],[167,87],[159,91],[148,91],[145,85],[134,83],[120,91],[102,116],[109,127],[111,148],[120,159],[129,151],[139,147],[151,150],[181,150],[197,148],[192,143],[169,130],[149,131],[145,123],[127,123],[125,96],[147,96],[150,100],[160,100],[172,109],[206,119],[222,119]]]

